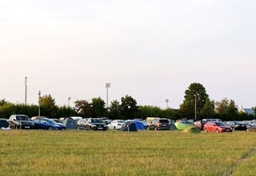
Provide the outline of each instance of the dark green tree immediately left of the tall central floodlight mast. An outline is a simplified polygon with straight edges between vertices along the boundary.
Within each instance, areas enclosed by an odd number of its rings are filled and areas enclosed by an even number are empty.
[[[107,115],[107,109],[105,108],[105,101],[102,98],[92,99],[93,116],[100,118]]]

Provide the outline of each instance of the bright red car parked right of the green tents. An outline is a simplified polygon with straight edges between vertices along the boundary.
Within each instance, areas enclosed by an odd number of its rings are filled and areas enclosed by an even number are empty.
[[[204,125],[205,132],[232,132],[232,128],[222,121],[208,121]]]

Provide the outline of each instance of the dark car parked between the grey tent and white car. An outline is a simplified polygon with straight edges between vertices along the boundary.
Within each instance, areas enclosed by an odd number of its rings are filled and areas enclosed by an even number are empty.
[[[88,118],[86,122],[86,130],[104,130],[108,129],[105,121],[100,118]]]

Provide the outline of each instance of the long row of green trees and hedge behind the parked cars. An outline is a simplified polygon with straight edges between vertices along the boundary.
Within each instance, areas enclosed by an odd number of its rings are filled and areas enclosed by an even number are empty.
[[[56,106],[51,95],[44,95],[40,99],[40,106],[12,104],[5,99],[0,100],[0,117],[8,118],[11,114],[27,114],[29,116],[48,116],[51,118],[82,116],[82,117],[109,117],[109,119],[145,119],[149,116],[165,117],[173,120],[186,118],[200,120],[203,118],[220,118],[223,121],[252,120],[255,115],[238,112],[235,101],[222,99],[215,101],[209,99],[205,87],[199,83],[192,83],[184,92],[184,101],[179,109],[161,109],[158,106],[138,106],[136,99],[125,95],[121,102],[110,102],[105,107],[102,98],[89,100],[76,100],[75,108],[70,106]],[[256,108],[254,108],[254,111]],[[255,114],[255,113],[254,113]]]

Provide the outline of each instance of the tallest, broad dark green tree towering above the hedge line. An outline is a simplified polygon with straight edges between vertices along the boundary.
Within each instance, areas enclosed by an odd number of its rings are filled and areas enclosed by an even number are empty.
[[[200,83],[192,83],[184,92],[184,102],[180,105],[180,113],[184,118],[199,119],[201,109],[205,106],[209,96],[205,87]]]

